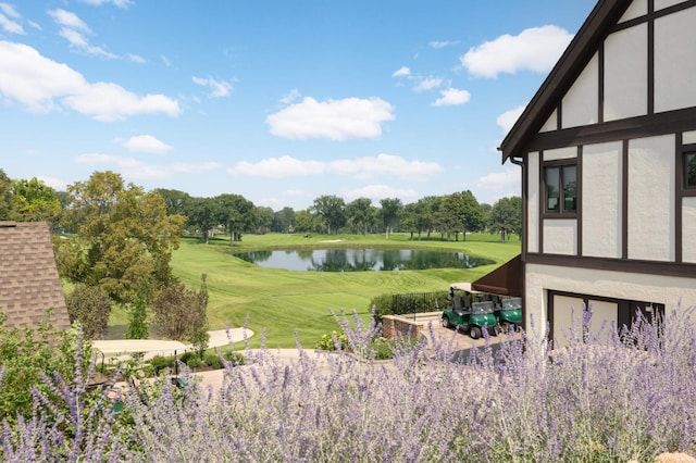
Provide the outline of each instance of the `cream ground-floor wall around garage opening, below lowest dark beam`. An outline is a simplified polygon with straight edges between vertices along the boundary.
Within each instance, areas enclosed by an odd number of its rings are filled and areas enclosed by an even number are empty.
[[[693,278],[526,264],[524,283],[524,317],[532,336],[544,335],[549,290],[662,303],[668,312],[680,306],[680,301],[683,309],[696,304]]]

